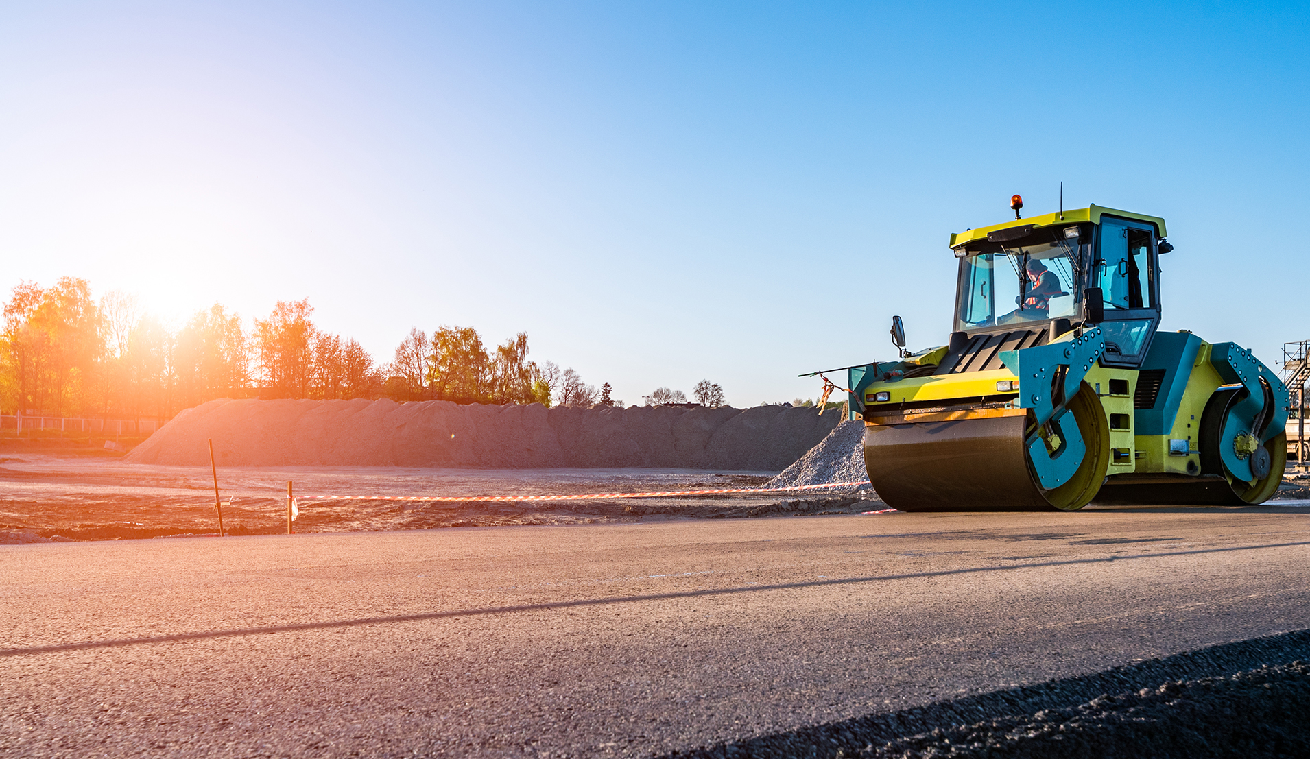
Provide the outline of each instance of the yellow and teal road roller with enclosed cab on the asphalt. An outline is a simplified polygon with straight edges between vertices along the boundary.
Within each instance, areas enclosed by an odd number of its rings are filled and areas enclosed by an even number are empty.
[[[829,370],[846,372],[878,495],[905,512],[1269,499],[1288,389],[1237,343],[1158,330],[1165,220],[1010,207],[951,234],[947,344],[910,353],[895,317],[895,361]]]

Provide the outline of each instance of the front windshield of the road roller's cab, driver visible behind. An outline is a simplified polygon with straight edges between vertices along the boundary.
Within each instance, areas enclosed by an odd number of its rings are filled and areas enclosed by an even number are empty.
[[[958,331],[1077,313],[1077,239],[1002,247],[960,259]]]

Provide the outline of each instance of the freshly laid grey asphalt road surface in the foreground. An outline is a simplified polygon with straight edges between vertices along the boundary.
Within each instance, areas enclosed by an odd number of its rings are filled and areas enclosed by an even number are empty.
[[[1310,508],[0,547],[0,754],[650,755],[1310,628]]]

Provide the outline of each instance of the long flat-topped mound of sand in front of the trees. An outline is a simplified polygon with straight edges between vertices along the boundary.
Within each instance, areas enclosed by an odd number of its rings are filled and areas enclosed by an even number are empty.
[[[546,408],[445,400],[211,400],[126,461],[207,466],[685,467],[778,471],[838,415],[787,406]]]

